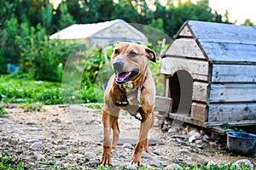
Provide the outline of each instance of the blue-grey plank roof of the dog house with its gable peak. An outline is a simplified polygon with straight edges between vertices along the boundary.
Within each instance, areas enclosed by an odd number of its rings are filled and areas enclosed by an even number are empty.
[[[194,37],[212,62],[256,62],[256,27],[189,20],[177,36]]]

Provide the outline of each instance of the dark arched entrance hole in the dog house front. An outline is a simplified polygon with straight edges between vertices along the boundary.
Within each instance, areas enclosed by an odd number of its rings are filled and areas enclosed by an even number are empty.
[[[172,113],[190,114],[193,93],[193,78],[188,71],[177,71],[169,82],[170,94],[173,99]]]

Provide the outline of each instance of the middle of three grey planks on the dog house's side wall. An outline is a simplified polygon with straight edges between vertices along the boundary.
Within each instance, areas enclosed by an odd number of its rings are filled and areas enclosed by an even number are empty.
[[[210,102],[254,102],[256,84],[212,84]]]

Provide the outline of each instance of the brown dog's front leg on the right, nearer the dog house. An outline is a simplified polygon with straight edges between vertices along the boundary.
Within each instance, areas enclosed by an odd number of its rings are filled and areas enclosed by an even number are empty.
[[[150,114],[145,121],[141,122],[139,139],[133,152],[131,164],[137,164],[140,166],[143,150],[150,154],[150,151],[148,150],[148,131],[152,127],[153,122],[154,113]]]

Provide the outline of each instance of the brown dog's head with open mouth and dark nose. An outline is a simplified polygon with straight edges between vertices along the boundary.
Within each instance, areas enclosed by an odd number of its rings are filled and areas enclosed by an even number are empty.
[[[137,43],[117,42],[111,56],[116,83],[132,82],[145,74],[148,60],[155,62],[155,53],[152,49]]]

